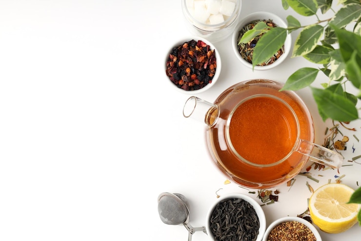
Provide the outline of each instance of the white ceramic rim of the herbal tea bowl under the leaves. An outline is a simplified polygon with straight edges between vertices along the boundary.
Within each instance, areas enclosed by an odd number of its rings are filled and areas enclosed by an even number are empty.
[[[270,20],[272,20],[272,22],[276,23],[277,26],[279,26],[279,27],[284,27],[284,28],[287,27],[286,22],[284,22],[279,16],[277,16],[273,13],[269,13],[269,12],[251,13],[250,15],[247,15],[246,17],[241,19],[241,21],[238,23],[238,25],[236,27],[236,30],[233,32],[233,35],[232,35],[232,48],[233,48],[233,51],[236,54],[237,58],[241,61],[241,63],[249,68],[252,68],[252,64],[249,63],[248,61],[244,60],[241,57],[241,54],[238,50],[238,37],[239,37],[240,31],[244,27],[244,25],[246,25],[250,22],[256,21],[256,20],[261,20],[261,19],[266,19],[266,20],[270,19]],[[267,70],[267,69],[270,69],[270,68],[280,65],[286,59],[287,55],[291,51],[291,45],[292,45],[291,35],[287,34],[286,41],[284,43],[284,52],[280,56],[280,58],[277,59],[274,63],[267,65],[267,66],[255,66],[254,70]]]

